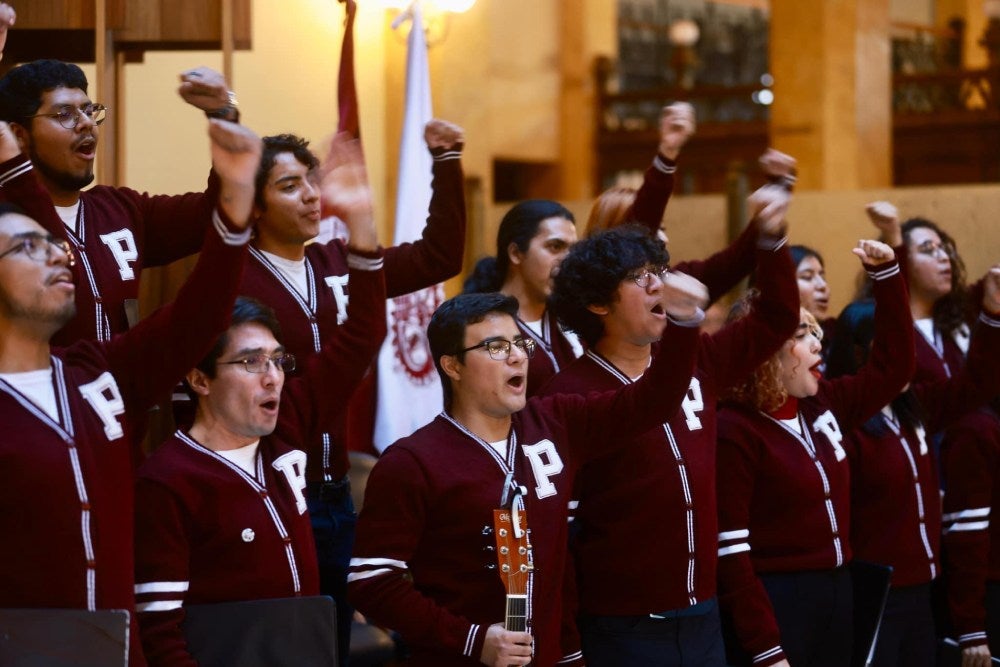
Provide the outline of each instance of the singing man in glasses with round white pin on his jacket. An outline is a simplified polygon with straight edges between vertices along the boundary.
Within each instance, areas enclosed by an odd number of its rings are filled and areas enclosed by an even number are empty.
[[[341,428],[386,333],[382,252],[363,171],[348,162],[328,177],[328,204],[351,232],[345,323],[286,377],[296,359],[274,311],[241,297],[229,330],[187,374],[194,423],[139,468],[135,590],[151,665],[197,664],[182,633],[185,605],[320,592],[307,454],[321,456],[321,434]]]

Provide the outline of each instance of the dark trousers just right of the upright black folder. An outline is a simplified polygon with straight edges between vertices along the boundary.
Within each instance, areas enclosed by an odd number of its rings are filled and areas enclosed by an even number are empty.
[[[933,667],[936,650],[931,585],[890,588],[873,667]]]

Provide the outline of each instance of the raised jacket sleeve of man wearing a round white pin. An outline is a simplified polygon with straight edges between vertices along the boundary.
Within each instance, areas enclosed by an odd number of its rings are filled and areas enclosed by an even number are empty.
[[[277,431],[314,434],[315,437],[305,439],[314,445],[322,443],[319,434],[338,430],[348,400],[378,354],[386,334],[381,251],[348,254],[347,264],[351,286],[347,320],[334,328],[320,354],[309,359],[304,373],[288,380],[278,412]]]

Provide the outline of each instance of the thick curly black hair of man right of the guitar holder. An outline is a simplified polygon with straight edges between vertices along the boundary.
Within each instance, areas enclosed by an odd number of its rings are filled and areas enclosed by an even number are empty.
[[[559,264],[548,308],[593,346],[604,335],[604,323],[588,306],[614,303],[619,284],[630,272],[669,263],[663,242],[645,227],[630,224],[598,232],[578,241]]]

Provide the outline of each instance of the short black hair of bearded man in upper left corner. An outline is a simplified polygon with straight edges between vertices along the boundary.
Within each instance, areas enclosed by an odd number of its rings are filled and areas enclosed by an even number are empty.
[[[87,92],[87,77],[73,63],[35,60],[18,65],[0,78],[0,120],[27,127],[42,106],[42,94],[56,88]]]

